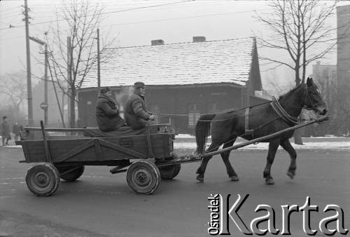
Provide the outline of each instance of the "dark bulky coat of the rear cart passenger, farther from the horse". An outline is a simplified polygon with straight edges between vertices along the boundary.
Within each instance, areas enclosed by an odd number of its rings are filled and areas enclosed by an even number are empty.
[[[125,126],[125,120],[120,117],[116,102],[106,94],[97,98],[96,119],[99,129],[108,132]]]

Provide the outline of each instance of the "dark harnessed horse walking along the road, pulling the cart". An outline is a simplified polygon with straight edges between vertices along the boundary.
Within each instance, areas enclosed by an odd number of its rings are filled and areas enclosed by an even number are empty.
[[[325,115],[327,109],[325,102],[319,93],[317,86],[311,78],[307,79],[307,83],[302,83],[285,95],[279,97],[279,100],[260,104],[250,107],[248,111],[239,109],[237,111],[229,111],[219,114],[202,115],[196,124],[195,135],[197,142],[197,154],[204,152],[216,151],[222,144],[223,148],[230,147],[234,144],[237,137],[243,137],[246,140],[252,140],[257,137],[263,137],[274,133],[297,123],[297,116],[300,115],[302,107],[313,109],[318,115]],[[248,114],[248,116],[246,116]],[[212,123],[212,125],[211,125]],[[247,133],[248,129],[253,133]],[[210,128],[211,127],[211,128]],[[204,151],[206,147],[207,137],[211,130],[211,145]],[[287,175],[293,179],[296,170],[297,153],[289,142],[293,131],[282,133],[278,137],[265,140],[269,142],[269,151],[267,154],[267,163],[264,170],[264,178],[266,184],[274,184],[270,170],[274,162],[279,145],[283,147],[290,155],[290,165]],[[232,181],[238,181],[238,176],[229,161],[230,151],[221,153],[223,163],[225,163],[228,176]],[[204,181],[204,172],[207,168],[208,161],[212,156],[204,156],[200,168],[197,170],[197,180]]]

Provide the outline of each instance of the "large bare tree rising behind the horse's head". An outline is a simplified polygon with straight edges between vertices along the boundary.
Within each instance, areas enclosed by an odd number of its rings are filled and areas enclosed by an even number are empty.
[[[337,1],[325,4],[312,0],[270,0],[271,13],[257,14],[258,21],[271,30],[268,39],[257,36],[262,47],[284,50],[292,62],[261,57],[269,64],[286,65],[295,72],[295,85],[305,79],[310,62],[324,57],[332,50],[337,38],[335,27],[328,27],[327,19],[334,14]],[[301,76],[300,76],[301,74]],[[301,79],[300,79],[301,78]]]

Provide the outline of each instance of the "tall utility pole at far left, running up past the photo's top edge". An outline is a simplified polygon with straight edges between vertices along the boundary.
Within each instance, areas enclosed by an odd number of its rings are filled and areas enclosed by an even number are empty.
[[[25,43],[27,48],[27,100],[28,100],[28,124],[33,125],[33,97],[31,95],[31,69],[30,69],[30,45],[29,45],[29,17],[27,0],[25,0]]]

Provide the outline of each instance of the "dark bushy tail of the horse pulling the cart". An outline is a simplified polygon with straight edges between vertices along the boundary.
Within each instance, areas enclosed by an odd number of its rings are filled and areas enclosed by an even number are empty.
[[[195,135],[197,142],[197,154],[203,154],[207,145],[207,137],[209,136],[211,121],[216,114],[204,114],[196,123]]]

